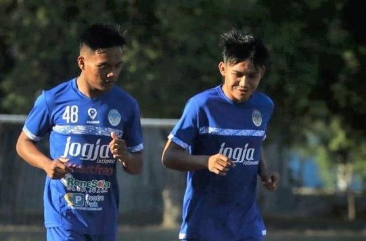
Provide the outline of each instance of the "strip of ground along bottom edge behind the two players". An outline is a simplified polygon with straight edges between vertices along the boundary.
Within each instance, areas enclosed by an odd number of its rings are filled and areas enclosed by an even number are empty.
[[[1,241],[45,240],[43,227],[6,226],[0,227]],[[122,227],[118,241],[177,241],[177,229],[161,227]],[[266,241],[364,241],[366,231],[347,230],[268,230]],[[225,240],[223,240],[225,241]]]

